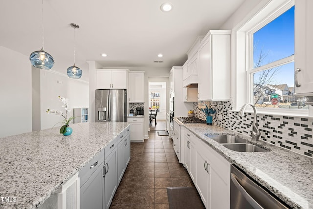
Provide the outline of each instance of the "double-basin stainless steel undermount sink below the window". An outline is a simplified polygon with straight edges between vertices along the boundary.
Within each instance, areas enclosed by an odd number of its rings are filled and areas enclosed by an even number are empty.
[[[210,139],[215,140],[224,147],[236,152],[268,152],[268,150],[258,147],[254,144],[247,143],[248,140],[232,135],[208,135]]]

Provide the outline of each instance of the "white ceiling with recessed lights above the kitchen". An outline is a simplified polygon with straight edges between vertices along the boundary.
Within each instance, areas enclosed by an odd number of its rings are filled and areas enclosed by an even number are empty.
[[[199,35],[219,29],[244,0],[44,0],[44,49],[53,70],[74,62],[103,67],[181,66]],[[173,10],[160,5],[171,2]],[[42,46],[42,1],[0,2],[0,46],[29,56]],[[101,57],[106,53],[107,57]],[[159,53],[162,58],[157,57]],[[163,61],[155,63],[154,61]],[[84,69],[82,69],[84,70]]]

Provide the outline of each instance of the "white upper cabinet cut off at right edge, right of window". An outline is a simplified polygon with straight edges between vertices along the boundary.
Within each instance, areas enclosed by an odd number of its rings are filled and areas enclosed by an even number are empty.
[[[295,1],[295,93],[313,95],[313,1]]]

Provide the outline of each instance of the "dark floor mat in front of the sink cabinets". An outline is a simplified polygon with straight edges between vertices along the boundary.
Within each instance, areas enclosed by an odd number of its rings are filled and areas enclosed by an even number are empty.
[[[205,209],[195,187],[167,187],[170,209]]]

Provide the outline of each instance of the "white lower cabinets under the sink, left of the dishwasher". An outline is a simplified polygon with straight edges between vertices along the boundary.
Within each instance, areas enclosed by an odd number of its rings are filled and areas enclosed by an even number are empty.
[[[230,163],[208,144],[184,129],[184,167],[207,209],[230,207]]]

